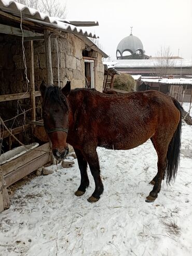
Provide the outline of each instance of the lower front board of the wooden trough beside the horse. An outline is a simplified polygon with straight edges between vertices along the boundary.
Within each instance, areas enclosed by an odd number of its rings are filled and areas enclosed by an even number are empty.
[[[26,163],[25,165],[22,165],[17,170],[8,173],[7,175],[4,176],[5,181],[7,183],[7,187],[21,180],[21,178],[32,173],[39,167],[42,167],[44,164],[46,164],[49,161],[50,161],[50,153],[45,153],[42,156],[32,159],[30,162]]]

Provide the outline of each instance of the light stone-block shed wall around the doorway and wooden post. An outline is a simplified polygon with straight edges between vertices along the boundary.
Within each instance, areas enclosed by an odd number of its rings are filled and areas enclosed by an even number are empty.
[[[66,81],[71,81],[72,89],[82,88],[85,85],[85,64],[82,55],[85,49],[85,43],[77,36],[70,33],[65,33],[63,39],[51,39],[51,54],[52,54],[52,71],[53,82],[58,81],[58,56],[56,40],[58,40],[59,49],[59,75],[61,86],[66,84]],[[98,52],[93,52],[97,60],[95,60],[95,88],[102,92],[104,79],[104,66],[102,63],[102,55]],[[34,66],[35,66],[35,83],[40,84],[44,79],[46,81],[46,66],[45,66],[45,47],[44,42],[34,43]]]

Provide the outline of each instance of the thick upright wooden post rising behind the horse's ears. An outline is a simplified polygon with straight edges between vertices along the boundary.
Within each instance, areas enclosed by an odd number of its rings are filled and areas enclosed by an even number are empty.
[[[50,84],[53,84],[53,75],[52,75],[52,61],[51,61],[51,38],[48,30],[44,30],[44,37],[45,37],[47,82],[50,85]]]

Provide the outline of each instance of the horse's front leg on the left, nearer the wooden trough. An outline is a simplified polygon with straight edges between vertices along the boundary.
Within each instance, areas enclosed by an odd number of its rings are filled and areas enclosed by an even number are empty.
[[[79,197],[85,194],[86,188],[89,186],[89,178],[87,175],[87,161],[85,160],[83,154],[79,149],[74,148],[74,150],[77,156],[77,161],[80,170],[80,186],[75,192],[75,196]]]

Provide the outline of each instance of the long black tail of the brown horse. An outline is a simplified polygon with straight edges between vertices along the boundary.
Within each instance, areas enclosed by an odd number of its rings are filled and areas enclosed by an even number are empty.
[[[177,129],[171,139],[167,152],[167,168],[166,176],[167,183],[170,184],[171,181],[175,180],[177,169],[180,163],[180,148],[181,148],[181,126],[182,126],[182,111],[183,108],[180,105],[179,101],[172,98],[173,103],[177,109],[180,111],[180,121],[177,126]]]

